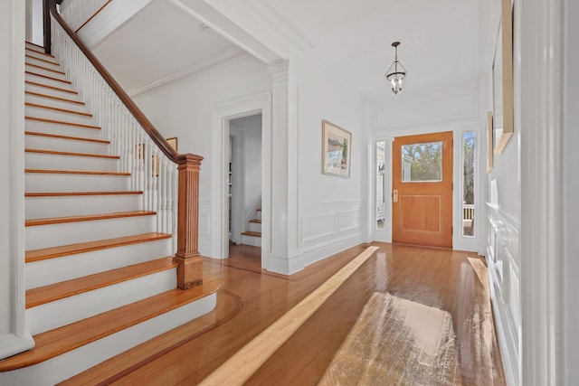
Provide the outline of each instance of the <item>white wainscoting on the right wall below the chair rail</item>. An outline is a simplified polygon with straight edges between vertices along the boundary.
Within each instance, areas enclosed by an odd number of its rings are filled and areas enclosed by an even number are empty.
[[[518,225],[489,206],[487,264],[498,340],[508,378],[520,384],[521,334],[520,254]]]

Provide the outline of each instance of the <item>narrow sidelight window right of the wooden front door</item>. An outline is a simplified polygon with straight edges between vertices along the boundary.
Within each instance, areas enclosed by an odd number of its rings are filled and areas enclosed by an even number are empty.
[[[474,236],[476,134],[462,135],[462,235]]]

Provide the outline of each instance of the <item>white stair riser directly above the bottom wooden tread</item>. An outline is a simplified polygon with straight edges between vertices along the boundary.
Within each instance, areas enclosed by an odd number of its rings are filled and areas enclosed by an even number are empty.
[[[41,334],[174,289],[176,278],[176,268],[166,269],[73,297],[65,297],[27,309],[26,322],[31,334]]]

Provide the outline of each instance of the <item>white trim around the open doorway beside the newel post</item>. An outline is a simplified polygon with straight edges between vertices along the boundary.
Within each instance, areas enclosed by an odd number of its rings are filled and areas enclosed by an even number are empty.
[[[271,218],[271,92],[237,99],[213,108],[211,243],[214,258],[229,256],[228,189],[229,122],[261,114],[261,268],[269,268]]]

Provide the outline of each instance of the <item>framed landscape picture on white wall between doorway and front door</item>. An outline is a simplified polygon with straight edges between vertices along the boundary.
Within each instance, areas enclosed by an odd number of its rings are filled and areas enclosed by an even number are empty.
[[[322,173],[350,177],[352,133],[322,120]]]

